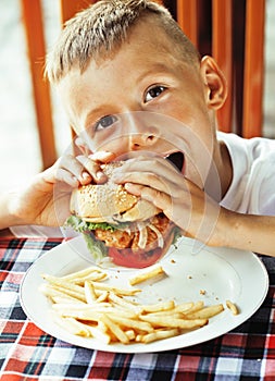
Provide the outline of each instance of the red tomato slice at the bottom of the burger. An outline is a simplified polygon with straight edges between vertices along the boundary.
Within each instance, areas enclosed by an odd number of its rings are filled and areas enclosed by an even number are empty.
[[[141,269],[155,263],[162,257],[163,249],[158,247],[151,251],[133,251],[130,248],[117,249],[109,247],[109,256],[117,266]]]

